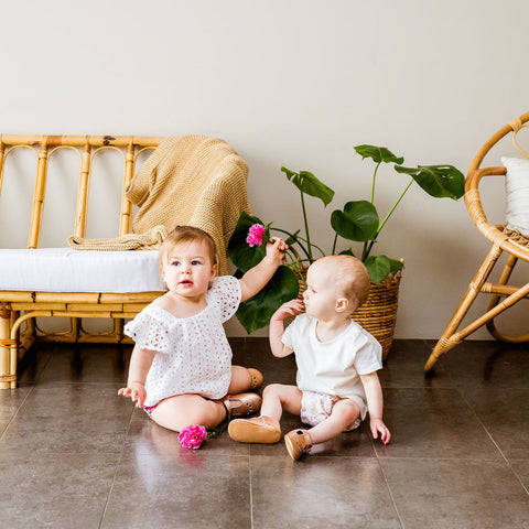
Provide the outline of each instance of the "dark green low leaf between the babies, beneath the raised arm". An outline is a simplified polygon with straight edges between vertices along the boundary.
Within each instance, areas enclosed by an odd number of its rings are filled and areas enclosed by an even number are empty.
[[[300,283],[294,272],[281,264],[257,295],[239,305],[237,319],[248,334],[264,327],[283,303],[298,296],[299,289]]]

